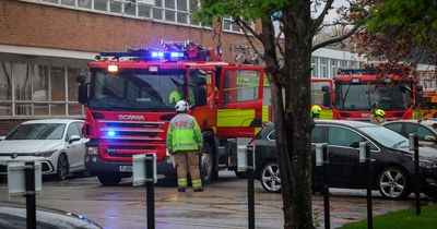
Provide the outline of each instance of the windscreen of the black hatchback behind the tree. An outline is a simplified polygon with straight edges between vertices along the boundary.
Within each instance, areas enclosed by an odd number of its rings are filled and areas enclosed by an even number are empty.
[[[358,128],[365,134],[370,136],[375,142],[389,148],[409,148],[409,140],[380,125]]]

